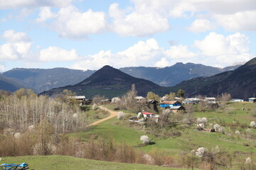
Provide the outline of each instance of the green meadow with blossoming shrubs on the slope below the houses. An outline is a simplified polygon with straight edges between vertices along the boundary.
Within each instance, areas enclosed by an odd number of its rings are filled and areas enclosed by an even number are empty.
[[[235,120],[239,120],[240,123],[246,123],[250,125],[250,121],[255,120],[255,117],[249,113],[250,110],[255,108],[253,103],[228,103],[224,109],[217,109],[216,111],[204,111],[196,112],[195,116],[198,118],[206,117],[210,120],[209,123],[218,123],[218,120],[222,119],[225,123],[232,123]],[[245,108],[245,109],[242,109]],[[235,112],[235,113],[234,113]],[[256,121],[256,120],[255,120]],[[190,152],[192,149],[198,147],[207,147],[211,149],[213,147],[220,147],[227,152],[256,152],[256,142],[242,139],[238,135],[223,135],[219,132],[198,132],[193,129],[196,126],[192,125],[189,128],[185,128],[181,131],[181,136],[178,137],[154,137],[146,134],[144,129],[141,130],[129,128],[124,120],[117,120],[112,118],[92,127],[86,132],[78,132],[69,134],[70,137],[79,137],[80,139],[87,141],[93,135],[105,136],[106,138],[112,136],[115,142],[125,141],[127,144],[137,147],[141,142],[139,137],[142,135],[148,135],[149,138],[154,142],[154,145],[147,145],[145,147],[139,147],[144,152],[151,152],[154,148],[164,150],[167,154],[180,154],[181,152]],[[235,130],[245,131],[242,128],[235,128],[228,130],[227,132],[235,133]],[[255,132],[255,130],[252,130]],[[249,143],[250,146],[245,146]]]

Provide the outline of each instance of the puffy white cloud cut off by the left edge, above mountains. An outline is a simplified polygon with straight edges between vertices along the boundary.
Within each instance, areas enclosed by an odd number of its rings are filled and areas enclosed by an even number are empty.
[[[28,57],[32,42],[26,33],[6,30],[1,38],[6,43],[0,45],[0,60],[18,60]]]

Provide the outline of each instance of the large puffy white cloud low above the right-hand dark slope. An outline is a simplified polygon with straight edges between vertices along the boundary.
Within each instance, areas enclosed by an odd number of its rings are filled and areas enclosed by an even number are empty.
[[[201,55],[206,56],[205,60],[212,63],[213,60],[220,66],[233,64],[234,61],[246,62],[252,58],[250,54],[250,41],[246,35],[235,33],[233,35],[220,35],[209,33],[203,40],[196,40],[195,46],[201,50]]]

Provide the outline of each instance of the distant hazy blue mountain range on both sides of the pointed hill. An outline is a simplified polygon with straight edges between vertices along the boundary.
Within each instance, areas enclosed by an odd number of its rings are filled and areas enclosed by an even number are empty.
[[[119,70],[132,77],[147,79],[160,86],[174,86],[181,81],[193,77],[209,77],[220,72],[230,71],[238,68],[240,65],[225,67],[224,69],[209,67],[203,64],[178,62],[171,67],[124,67]],[[82,71],[78,69],[54,68],[54,69],[11,69],[1,74],[11,79],[15,84],[23,84],[28,89],[36,93],[48,91],[61,86],[75,85],[90,77],[95,70]],[[1,86],[5,86],[0,83]],[[14,91],[14,89],[13,89]]]

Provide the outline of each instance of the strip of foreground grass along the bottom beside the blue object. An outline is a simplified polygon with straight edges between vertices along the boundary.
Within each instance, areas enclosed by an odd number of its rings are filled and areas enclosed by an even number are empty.
[[[95,161],[91,159],[82,159],[76,157],[68,157],[68,156],[59,156],[59,155],[50,155],[50,156],[23,156],[23,157],[4,157],[1,161],[1,164],[21,164],[26,162],[30,169],[35,170],[45,170],[45,169],[54,169],[54,170],[77,170],[77,169],[99,169],[99,170],[109,170],[109,169],[154,169],[154,170],[178,170],[174,168],[166,168],[161,166],[151,166],[144,164],[123,164],[116,162],[102,162]]]

